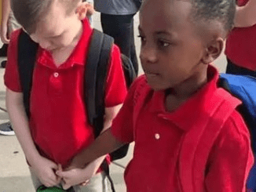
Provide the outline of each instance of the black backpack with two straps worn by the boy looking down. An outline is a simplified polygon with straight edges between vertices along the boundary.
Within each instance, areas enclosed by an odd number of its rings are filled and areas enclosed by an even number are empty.
[[[86,75],[84,96],[86,110],[90,125],[93,125],[94,136],[100,135],[104,124],[104,90],[108,72],[108,63],[112,51],[114,39],[101,31],[93,29],[90,49],[86,60]],[[38,44],[33,42],[29,35],[22,31],[18,42],[18,69],[20,74],[20,85],[24,95],[24,107],[27,117],[30,117],[30,94],[32,87],[32,76],[35,67]],[[127,56],[122,54],[123,71],[126,78],[126,85],[130,87],[136,78],[133,64]],[[115,150],[110,154],[112,160],[126,156],[129,144]],[[115,191],[112,179],[109,176],[107,161],[103,161],[102,168],[111,182],[112,190]]]

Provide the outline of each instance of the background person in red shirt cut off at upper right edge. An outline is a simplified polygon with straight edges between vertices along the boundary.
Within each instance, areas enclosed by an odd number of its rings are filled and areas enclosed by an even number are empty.
[[[238,0],[237,5],[235,28],[226,42],[226,73],[256,77],[256,1]]]

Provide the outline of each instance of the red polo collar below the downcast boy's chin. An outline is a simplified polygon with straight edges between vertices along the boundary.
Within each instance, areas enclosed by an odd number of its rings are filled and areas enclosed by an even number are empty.
[[[92,33],[92,28],[90,27],[89,20],[82,20],[82,35],[79,39],[78,44],[75,46],[75,49],[72,51],[71,55],[68,57],[64,63],[60,65],[60,69],[73,67],[75,64],[84,66],[86,60],[86,51],[88,49],[90,34]],[[56,68],[52,54],[46,50],[39,47],[38,49],[38,63],[46,67]]]

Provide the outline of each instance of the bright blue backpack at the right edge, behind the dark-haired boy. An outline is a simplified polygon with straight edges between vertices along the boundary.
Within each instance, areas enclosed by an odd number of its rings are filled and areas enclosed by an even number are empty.
[[[256,157],[256,78],[234,74],[221,74],[219,86],[243,101],[243,104],[238,110],[251,132],[251,147],[254,157]],[[256,191],[255,163],[247,179],[247,188]]]

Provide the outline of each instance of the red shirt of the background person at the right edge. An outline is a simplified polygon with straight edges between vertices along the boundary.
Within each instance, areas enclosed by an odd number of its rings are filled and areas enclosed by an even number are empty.
[[[238,5],[246,5],[248,0],[240,0]],[[256,71],[256,24],[252,27],[235,27],[227,38],[225,54],[239,67]]]

